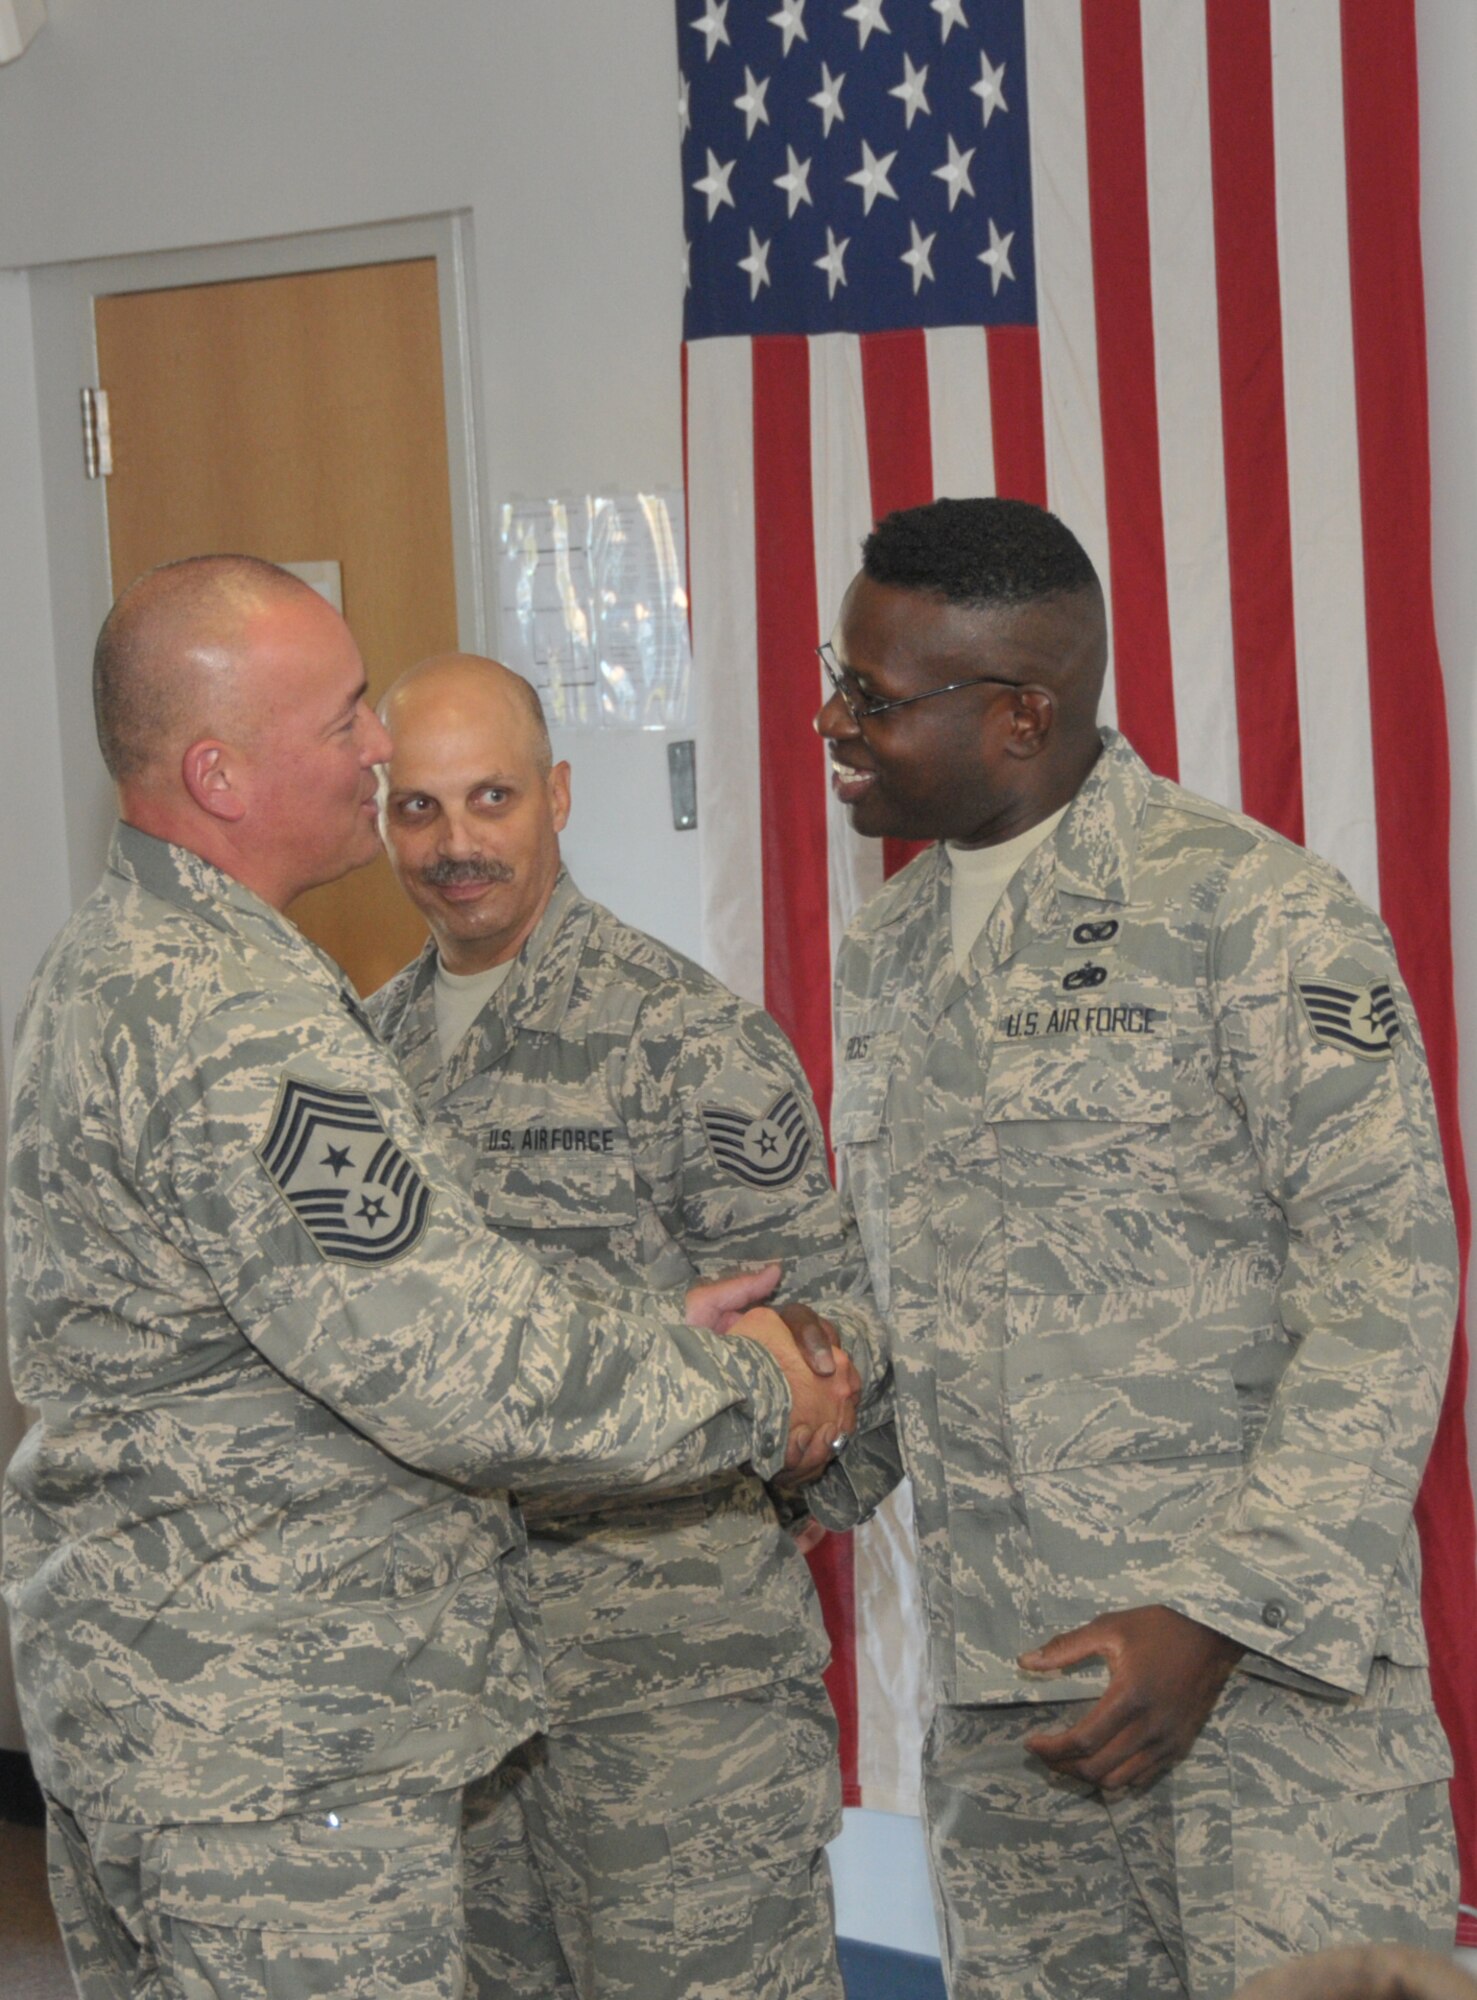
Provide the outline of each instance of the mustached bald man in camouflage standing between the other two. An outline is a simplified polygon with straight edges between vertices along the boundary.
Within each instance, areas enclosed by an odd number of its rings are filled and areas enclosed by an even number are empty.
[[[594,1286],[779,1260],[867,1356],[847,1296],[863,1256],[795,1054],[580,896],[558,858],[568,766],[534,690],[450,656],[382,716],[384,840],[432,940],[372,1014],[466,1144],[478,1208]],[[827,1638],[765,1486],[608,1500],[574,1482],[524,1516],[550,1728],[472,1794],[480,2000],[839,1996]]]

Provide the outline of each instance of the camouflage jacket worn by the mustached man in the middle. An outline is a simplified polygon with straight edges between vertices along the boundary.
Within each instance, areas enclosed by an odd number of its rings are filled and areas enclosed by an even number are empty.
[[[520,962],[442,1066],[434,944],[370,1002],[470,1150],[486,1220],[590,1286],[777,1258],[875,1378],[865,1266],[775,1022],[560,874]],[[524,1498],[554,1724],[819,1672],[805,1562],[749,1474],[620,1502]]]

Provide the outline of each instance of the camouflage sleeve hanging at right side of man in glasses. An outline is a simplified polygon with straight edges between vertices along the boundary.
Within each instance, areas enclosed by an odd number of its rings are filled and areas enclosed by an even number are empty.
[[[1241,1640],[1253,1672],[1359,1692],[1411,1560],[1455,1322],[1425,1052],[1389,934],[1301,856],[1241,866],[1211,972],[1217,1088],[1285,1224],[1277,1312],[1293,1352],[1165,1602]]]

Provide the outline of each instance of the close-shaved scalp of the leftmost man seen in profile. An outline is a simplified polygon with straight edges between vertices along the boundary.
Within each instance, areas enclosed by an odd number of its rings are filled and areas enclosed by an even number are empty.
[[[308,592],[256,556],[186,556],[148,570],[108,612],[92,654],[92,706],[108,774],[170,780],[186,744],[242,722],[232,662],[262,606]]]

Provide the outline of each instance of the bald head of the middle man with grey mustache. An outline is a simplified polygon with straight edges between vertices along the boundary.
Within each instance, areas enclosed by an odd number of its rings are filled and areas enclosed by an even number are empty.
[[[492,660],[414,668],[388,694],[380,834],[448,972],[512,958],[548,906],[568,764],[550,768],[522,686]]]

